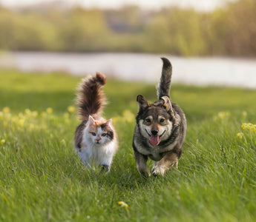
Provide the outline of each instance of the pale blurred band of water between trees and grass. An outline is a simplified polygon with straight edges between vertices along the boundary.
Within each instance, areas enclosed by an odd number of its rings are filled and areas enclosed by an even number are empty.
[[[138,53],[10,53],[0,56],[0,67],[24,72],[62,71],[73,75],[99,71],[125,81],[157,83],[162,69],[161,56]],[[173,83],[256,89],[255,58],[165,57],[173,66]]]

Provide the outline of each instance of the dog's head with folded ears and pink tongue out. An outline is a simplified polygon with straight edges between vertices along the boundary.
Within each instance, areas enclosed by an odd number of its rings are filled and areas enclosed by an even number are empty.
[[[148,138],[150,144],[157,146],[161,140],[169,138],[176,123],[171,100],[168,96],[163,96],[159,101],[149,104],[142,95],[138,95],[137,102],[139,112],[136,119],[140,132],[143,137]]]

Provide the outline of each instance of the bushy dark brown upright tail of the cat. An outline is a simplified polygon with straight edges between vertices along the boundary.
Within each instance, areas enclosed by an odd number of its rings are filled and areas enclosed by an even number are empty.
[[[78,115],[82,121],[88,120],[89,115],[100,115],[102,112],[106,98],[101,88],[105,83],[106,77],[102,73],[96,73],[95,76],[82,79],[76,98]]]

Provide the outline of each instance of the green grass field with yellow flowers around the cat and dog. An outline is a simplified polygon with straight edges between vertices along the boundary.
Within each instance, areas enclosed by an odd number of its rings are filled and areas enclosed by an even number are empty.
[[[174,83],[188,119],[179,168],[144,179],[131,147],[136,96],[155,101],[155,86],[108,79],[119,151],[104,175],[73,150],[79,80],[0,71],[0,221],[256,220],[256,91]]]

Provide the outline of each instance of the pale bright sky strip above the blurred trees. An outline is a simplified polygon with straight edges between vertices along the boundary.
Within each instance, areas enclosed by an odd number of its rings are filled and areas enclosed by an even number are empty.
[[[7,7],[19,7],[53,0],[0,0]],[[138,5],[145,9],[160,9],[165,6],[193,7],[200,11],[211,11],[223,3],[235,0],[59,0],[84,7],[118,8],[125,4]]]

